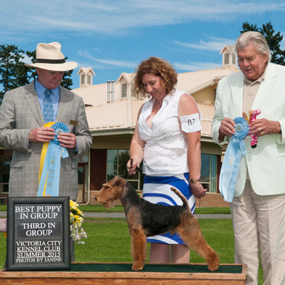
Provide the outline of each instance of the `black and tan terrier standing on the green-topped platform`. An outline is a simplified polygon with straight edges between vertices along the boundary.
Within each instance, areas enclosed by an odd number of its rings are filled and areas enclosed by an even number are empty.
[[[114,177],[103,185],[95,195],[95,199],[107,209],[113,207],[113,201],[116,199],[122,202],[132,241],[133,270],[142,270],[145,265],[147,237],[165,234],[165,232],[178,233],[190,249],[207,260],[210,271],[218,270],[219,257],[204,239],[187,199],[176,188],[172,187],[171,190],[182,199],[182,206],[165,206],[147,202],[139,197],[125,179]]]

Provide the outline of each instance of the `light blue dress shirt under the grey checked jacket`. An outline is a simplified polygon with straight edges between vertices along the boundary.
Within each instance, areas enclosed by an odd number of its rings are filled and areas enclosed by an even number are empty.
[[[47,88],[44,87],[41,83],[39,83],[38,79],[36,79],[35,81],[35,88],[36,88],[36,94],[38,95],[38,102],[40,103],[41,106],[41,113],[43,113],[43,99],[45,97],[44,93]],[[51,103],[53,103],[53,122],[56,122],[56,116],[58,115],[59,95],[61,93],[61,90],[59,86],[56,89],[50,89],[50,90],[51,90]],[[78,152],[78,143],[76,149],[73,151]]]

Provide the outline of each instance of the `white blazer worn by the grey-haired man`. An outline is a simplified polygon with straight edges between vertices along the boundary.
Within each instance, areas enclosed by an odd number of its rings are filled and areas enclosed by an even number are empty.
[[[214,104],[215,114],[212,120],[212,138],[218,140],[219,128],[224,118],[242,117],[242,97],[244,92],[244,75],[242,71],[231,74],[219,81],[217,98]],[[242,157],[234,197],[244,191],[247,167],[252,187],[257,195],[278,195],[285,193],[285,66],[269,63],[266,76],[254,99],[252,110],[261,110],[257,119],[279,121],[282,133],[264,135],[251,147],[250,136],[245,139],[247,155]]]

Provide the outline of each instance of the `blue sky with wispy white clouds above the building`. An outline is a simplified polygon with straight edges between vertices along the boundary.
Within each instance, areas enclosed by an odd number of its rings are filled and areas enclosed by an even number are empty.
[[[4,0],[1,11],[0,44],[33,51],[58,41],[78,63],[73,88],[81,67],[93,68],[93,84],[105,83],[149,56],[167,59],[178,73],[220,67],[219,51],[234,44],[245,21],[271,21],[285,36],[285,1],[276,0]]]

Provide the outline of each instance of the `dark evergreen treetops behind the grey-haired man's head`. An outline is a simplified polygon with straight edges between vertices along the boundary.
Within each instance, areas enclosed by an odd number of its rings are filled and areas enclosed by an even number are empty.
[[[263,24],[262,28],[258,28],[257,24],[251,25],[245,22],[244,24],[242,24],[242,31],[240,31],[240,33],[244,33],[246,31],[259,31],[259,33],[262,33],[264,38],[266,38],[269,49],[271,51],[271,63],[276,63],[280,64],[281,66],[285,66],[285,50],[281,50],[280,48],[280,43],[283,39],[283,36],[280,35],[280,32],[275,33],[270,21],[265,25]]]

